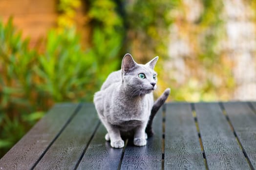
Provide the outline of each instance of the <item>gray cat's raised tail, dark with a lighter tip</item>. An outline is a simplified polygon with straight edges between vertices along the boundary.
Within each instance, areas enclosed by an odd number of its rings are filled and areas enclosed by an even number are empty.
[[[153,105],[153,107],[151,109],[151,114],[150,114],[150,117],[149,117],[149,122],[148,122],[148,125],[146,127],[146,133],[147,133],[148,136],[152,136],[153,135],[153,131],[152,131],[153,119],[155,117],[155,114],[159,110],[159,108],[165,103],[165,101],[168,98],[170,92],[171,92],[171,89],[167,88],[164,91],[164,93],[154,102],[154,105]]]

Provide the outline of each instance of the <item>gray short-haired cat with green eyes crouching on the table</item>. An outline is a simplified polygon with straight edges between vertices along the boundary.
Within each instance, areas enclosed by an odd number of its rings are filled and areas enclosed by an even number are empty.
[[[99,118],[107,129],[105,139],[113,148],[124,147],[121,135],[133,134],[133,144],[144,146],[153,134],[152,120],[170,94],[170,88],[153,102],[158,56],[146,65],[137,64],[130,54],[122,60],[121,70],[112,72],[94,95]],[[148,134],[148,135],[147,135]]]

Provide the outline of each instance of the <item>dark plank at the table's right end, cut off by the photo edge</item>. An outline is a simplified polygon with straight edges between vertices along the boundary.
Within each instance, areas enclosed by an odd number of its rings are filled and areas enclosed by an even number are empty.
[[[229,102],[223,105],[250,163],[256,169],[256,113],[246,102]]]

